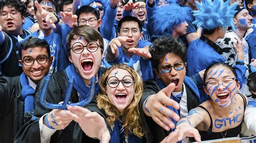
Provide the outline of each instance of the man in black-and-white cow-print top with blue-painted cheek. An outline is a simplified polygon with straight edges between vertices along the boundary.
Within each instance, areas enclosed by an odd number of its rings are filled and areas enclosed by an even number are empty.
[[[220,47],[220,51],[218,51],[218,53],[225,58],[225,63],[231,66],[235,65],[237,62],[240,62],[241,64],[244,63],[245,66],[248,65],[245,75],[246,80],[240,83],[242,84],[240,92],[245,95],[251,95],[246,84],[247,77],[249,73],[251,73],[251,66],[249,65],[249,46],[243,36],[245,32],[252,27],[252,16],[249,14],[248,10],[245,8],[241,9],[239,5],[237,5],[235,10],[237,10],[234,15],[235,30],[226,31],[225,37],[217,40],[216,43]],[[239,59],[239,53],[237,53],[233,45],[233,43],[236,43],[237,41],[241,41],[241,54],[244,56],[244,59]]]

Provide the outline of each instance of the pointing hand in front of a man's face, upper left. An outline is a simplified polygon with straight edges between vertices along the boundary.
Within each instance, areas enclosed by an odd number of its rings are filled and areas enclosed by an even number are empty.
[[[35,6],[39,14],[45,19],[47,25],[56,28],[56,25],[54,23],[57,22],[57,17],[53,13],[44,10],[37,1],[35,1]]]

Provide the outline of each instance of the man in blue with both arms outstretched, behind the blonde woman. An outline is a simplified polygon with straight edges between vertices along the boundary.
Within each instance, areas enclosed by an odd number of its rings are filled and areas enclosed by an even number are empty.
[[[136,17],[123,17],[118,23],[118,37],[110,41],[106,49],[105,58],[112,64],[129,63],[132,59],[133,67],[143,80],[153,77],[151,58],[148,47],[151,42],[140,41],[143,37],[142,25]]]

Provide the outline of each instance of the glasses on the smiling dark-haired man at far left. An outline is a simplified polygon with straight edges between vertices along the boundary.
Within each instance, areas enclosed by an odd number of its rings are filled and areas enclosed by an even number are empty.
[[[32,66],[35,62],[35,60],[39,63],[39,64],[44,64],[47,62],[47,59],[49,59],[48,56],[46,56],[45,54],[40,54],[36,57],[36,59],[33,59],[32,56],[25,56],[22,60],[22,62],[24,63],[24,65],[26,66]]]

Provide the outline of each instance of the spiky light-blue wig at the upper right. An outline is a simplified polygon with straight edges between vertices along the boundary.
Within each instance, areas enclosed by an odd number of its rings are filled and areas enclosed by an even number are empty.
[[[223,0],[205,0],[205,3],[196,2],[198,10],[193,11],[196,20],[193,24],[203,29],[213,30],[217,27],[232,26],[234,29],[233,17],[235,7],[238,3],[229,5],[231,0],[223,2]]]

